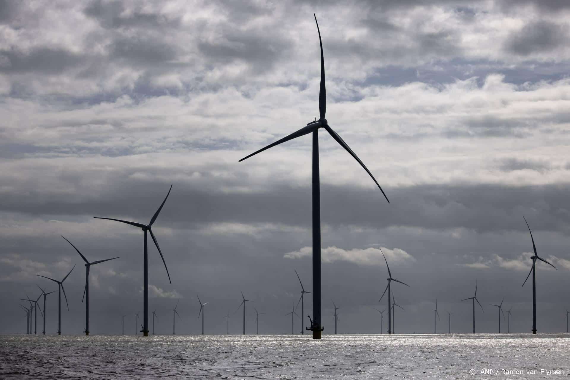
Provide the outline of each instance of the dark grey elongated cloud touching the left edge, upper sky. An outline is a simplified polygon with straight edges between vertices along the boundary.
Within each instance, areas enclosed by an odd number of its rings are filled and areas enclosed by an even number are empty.
[[[38,47],[29,52],[13,48],[0,50],[0,72],[57,74],[76,67],[85,60],[86,57],[59,47]]]

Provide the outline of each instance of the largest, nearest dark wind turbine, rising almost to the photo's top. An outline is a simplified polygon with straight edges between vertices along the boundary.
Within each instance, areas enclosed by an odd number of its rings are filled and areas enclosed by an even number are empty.
[[[311,330],[313,332],[313,339],[320,339],[321,333],[323,331],[323,326],[321,324],[321,241],[320,241],[320,182],[319,182],[319,128],[324,128],[327,132],[335,139],[336,142],[340,144],[355,160],[367,171],[367,173],[372,177],[374,183],[378,186],[382,194],[384,190],[380,187],[376,178],[370,173],[370,170],[360,161],[360,158],[352,151],[346,142],[332,130],[331,126],[328,125],[327,119],[325,119],[325,113],[327,111],[327,93],[325,90],[325,75],[324,75],[324,55],[323,55],[323,41],[321,40],[319,23],[315,15],[315,22],[317,24],[317,32],[319,33],[319,43],[320,43],[320,53],[321,53],[321,78],[320,78],[320,90],[319,90],[319,115],[320,119],[317,121],[311,121],[307,123],[307,126],[291,133],[290,135],[281,138],[278,141],[273,142],[270,145],[265,146],[262,149],[257,150],[257,152],[251,153],[239,160],[240,162],[246,160],[255,154],[263,152],[263,150],[269,149],[272,146],[279,145],[282,142],[292,140],[294,138],[304,136],[306,134],[312,133],[312,232],[313,232],[313,290],[315,291],[313,296],[313,313],[314,318],[312,320]],[[384,194],[386,201],[388,197]],[[389,203],[390,201],[388,201]]]

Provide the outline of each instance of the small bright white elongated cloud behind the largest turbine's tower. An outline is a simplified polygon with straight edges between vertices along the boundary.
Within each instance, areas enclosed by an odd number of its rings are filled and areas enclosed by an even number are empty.
[[[383,249],[382,249],[383,248]],[[348,261],[355,264],[364,265],[385,265],[384,258],[382,257],[382,252],[386,255],[386,260],[390,263],[405,263],[413,262],[416,259],[408,252],[401,250],[400,248],[394,248],[390,250],[389,248],[366,248],[364,250],[353,248],[352,250],[343,250],[343,248],[338,247],[327,247],[321,249],[321,260],[323,263],[334,263],[335,261]],[[284,254],[283,257],[287,259],[300,259],[307,256],[312,256],[312,247],[303,247],[299,251],[288,252]]]

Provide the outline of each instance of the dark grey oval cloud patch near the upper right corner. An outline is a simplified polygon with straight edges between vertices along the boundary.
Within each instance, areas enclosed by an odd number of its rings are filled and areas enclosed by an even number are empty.
[[[518,55],[548,52],[561,46],[567,40],[566,28],[548,21],[539,21],[513,32],[507,39],[508,51]]]

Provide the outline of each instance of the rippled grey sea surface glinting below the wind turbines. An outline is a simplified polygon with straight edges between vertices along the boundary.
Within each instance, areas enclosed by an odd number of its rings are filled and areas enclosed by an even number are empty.
[[[309,335],[4,335],[0,379],[558,379],[570,378],[569,338],[342,334],[314,341]]]

